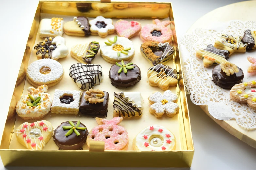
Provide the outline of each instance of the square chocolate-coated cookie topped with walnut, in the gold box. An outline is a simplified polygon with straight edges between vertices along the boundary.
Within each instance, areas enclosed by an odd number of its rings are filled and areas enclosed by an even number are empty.
[[[99,89],[89,89],[83,92],[79,111],[87,115],[107,116],[109,93]]]

